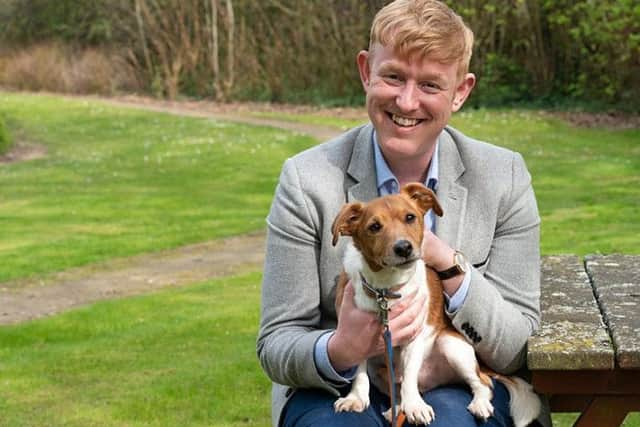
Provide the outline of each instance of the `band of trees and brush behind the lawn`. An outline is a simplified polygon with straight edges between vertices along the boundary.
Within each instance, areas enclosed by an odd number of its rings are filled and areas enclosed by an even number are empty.
[[[385,3],[5,0],[0,3],[0,58],[5,58],[0,59],[0,82],[33,89],[29,81],[37,79],[11,64],[16,55],[45,44],[45,51],[63,59],[60,71],[52,73],[49,66],[48,75],[73,74],[68,69],[87,51],[94,53],[93,61],[102,61],[94,71],[108,70],[100,84],[76,87],[68,78],[59,88],[40,81],[35,89],[359,103],[355,54],[367,47],[371,19]],[[472,68],[479,81],[472,104],[640,111],[637,1],[447,3],[476,34]],[[91,58],[84,58],[85,68],[87,62]],[[83,74],[75,68],[76,75]]]

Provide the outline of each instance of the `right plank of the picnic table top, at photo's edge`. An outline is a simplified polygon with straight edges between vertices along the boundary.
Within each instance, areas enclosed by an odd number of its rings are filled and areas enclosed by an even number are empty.
[[[589,256],[591,277],[604,320],[611,331],[616,361],[640,369],[640,256]]]

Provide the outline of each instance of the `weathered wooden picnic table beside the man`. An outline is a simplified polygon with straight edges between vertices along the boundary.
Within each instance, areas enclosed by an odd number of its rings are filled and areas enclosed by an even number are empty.
[[[545,257],[541,292],[534,388],[574,426],[621,425],[640,411],[640,256]]]

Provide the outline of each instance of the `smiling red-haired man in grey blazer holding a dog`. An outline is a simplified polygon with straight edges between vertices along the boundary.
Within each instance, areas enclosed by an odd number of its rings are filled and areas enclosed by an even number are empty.
[[[447,126],[475,84],[472,45],[472,32],[440,2],[387,5],[374,19],[369,50],[357,56],[371,123],[285,162],[267,218],[257,343],[273,380],[274,425],[386,425],[385,381],[374,369],[371,406],[333,410],[354,367],[382,354],[384,344],[377,316],[355,308],[350,286],[336,321],[344,244],[332,246],[331,224],[345,202],[397,192],[408,182],[434,188],[444,211],[426,218],[424,253],[428,266],[449,276],[443,285],[454,327],[494,370],[523,366],[526,340],[540,320],[539,216],[519,154]],[[423,303],[414,298],[391,311],[394,345],[420,332]],[[424,397],[436,414],[431,425],[476,425],[465,387],[439,387]],[[511,425],[499,384],[492,403],[488,425]],[[548,414],[543,418],[548,424]]]

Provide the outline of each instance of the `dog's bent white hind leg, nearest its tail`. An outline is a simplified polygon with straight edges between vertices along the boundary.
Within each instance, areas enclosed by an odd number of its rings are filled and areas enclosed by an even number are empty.
[[[473,399],[467,409],[477,418],[483,420],[493,415],[493,390],[491,379],[481,377],[478,360],[473,347],[464,338],[454,335],[444,335],[438,339],[438,345],[443,346],[443,354],[449,365],[469,385]]]

